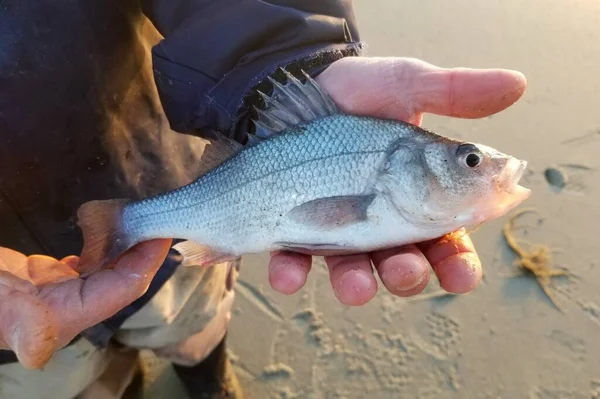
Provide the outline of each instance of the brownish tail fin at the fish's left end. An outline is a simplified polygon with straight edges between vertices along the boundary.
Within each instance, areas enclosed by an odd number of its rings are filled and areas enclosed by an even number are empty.
[[[123,208],[128,200],[90,201],[77,211],[83,233],[83,251],[78,270],[93,273],[128,250],[135,243],[123,231]]]

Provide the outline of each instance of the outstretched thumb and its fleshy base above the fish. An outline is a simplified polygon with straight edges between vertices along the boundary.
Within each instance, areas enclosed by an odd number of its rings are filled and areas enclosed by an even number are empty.
[[[515,103],[527,86],[517,71],[440,68],[397,57],[341,59],[317,81],[348,113],[405,121],[420,112],[489,116]]]

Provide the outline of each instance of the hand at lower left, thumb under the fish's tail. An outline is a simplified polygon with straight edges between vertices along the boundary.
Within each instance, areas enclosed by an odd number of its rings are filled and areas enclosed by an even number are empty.
[[[140,244],[86,280],[76,256],[27,257],[0,247],[0,349],[13,350],[26,368],[43,367],[81,331],[142,296],[170,244]]]

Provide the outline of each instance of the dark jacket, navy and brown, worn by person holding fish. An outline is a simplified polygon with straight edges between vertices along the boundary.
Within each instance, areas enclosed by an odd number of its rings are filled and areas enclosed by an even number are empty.
[[[358,39],[349,0],[2,0],[0,246],[78,254],[83,202],[189,182],[194,135],[244,143],[266,76],[315,75]]]

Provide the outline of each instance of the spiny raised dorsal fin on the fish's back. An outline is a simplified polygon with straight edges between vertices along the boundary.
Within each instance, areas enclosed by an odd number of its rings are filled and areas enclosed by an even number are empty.
[[[265,109],[255,108],[258,119],[252,120],[256,127],[254,140],[266,139],[287,128],[340,112],[333,100],[306,72],[302,71],[306,79],[302,83],[285,69],[281,68],[281,71],[287,78],[285,84],[269,77],[273,93],[268,96],[258,92],[265,102]]]

